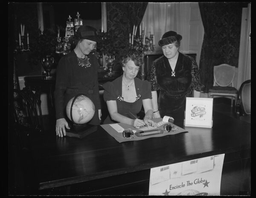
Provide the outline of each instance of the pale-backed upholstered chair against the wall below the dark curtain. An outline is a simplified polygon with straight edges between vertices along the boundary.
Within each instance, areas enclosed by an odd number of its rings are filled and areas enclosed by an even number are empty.
[[[221,64],[213,67],[214,83],[209,89],[208,98],[227,97],[231,98],[231,106],[233,106],[233,99],[236,98],[238,90],[233,86],[235,76],[235,67],[228,64]]]

